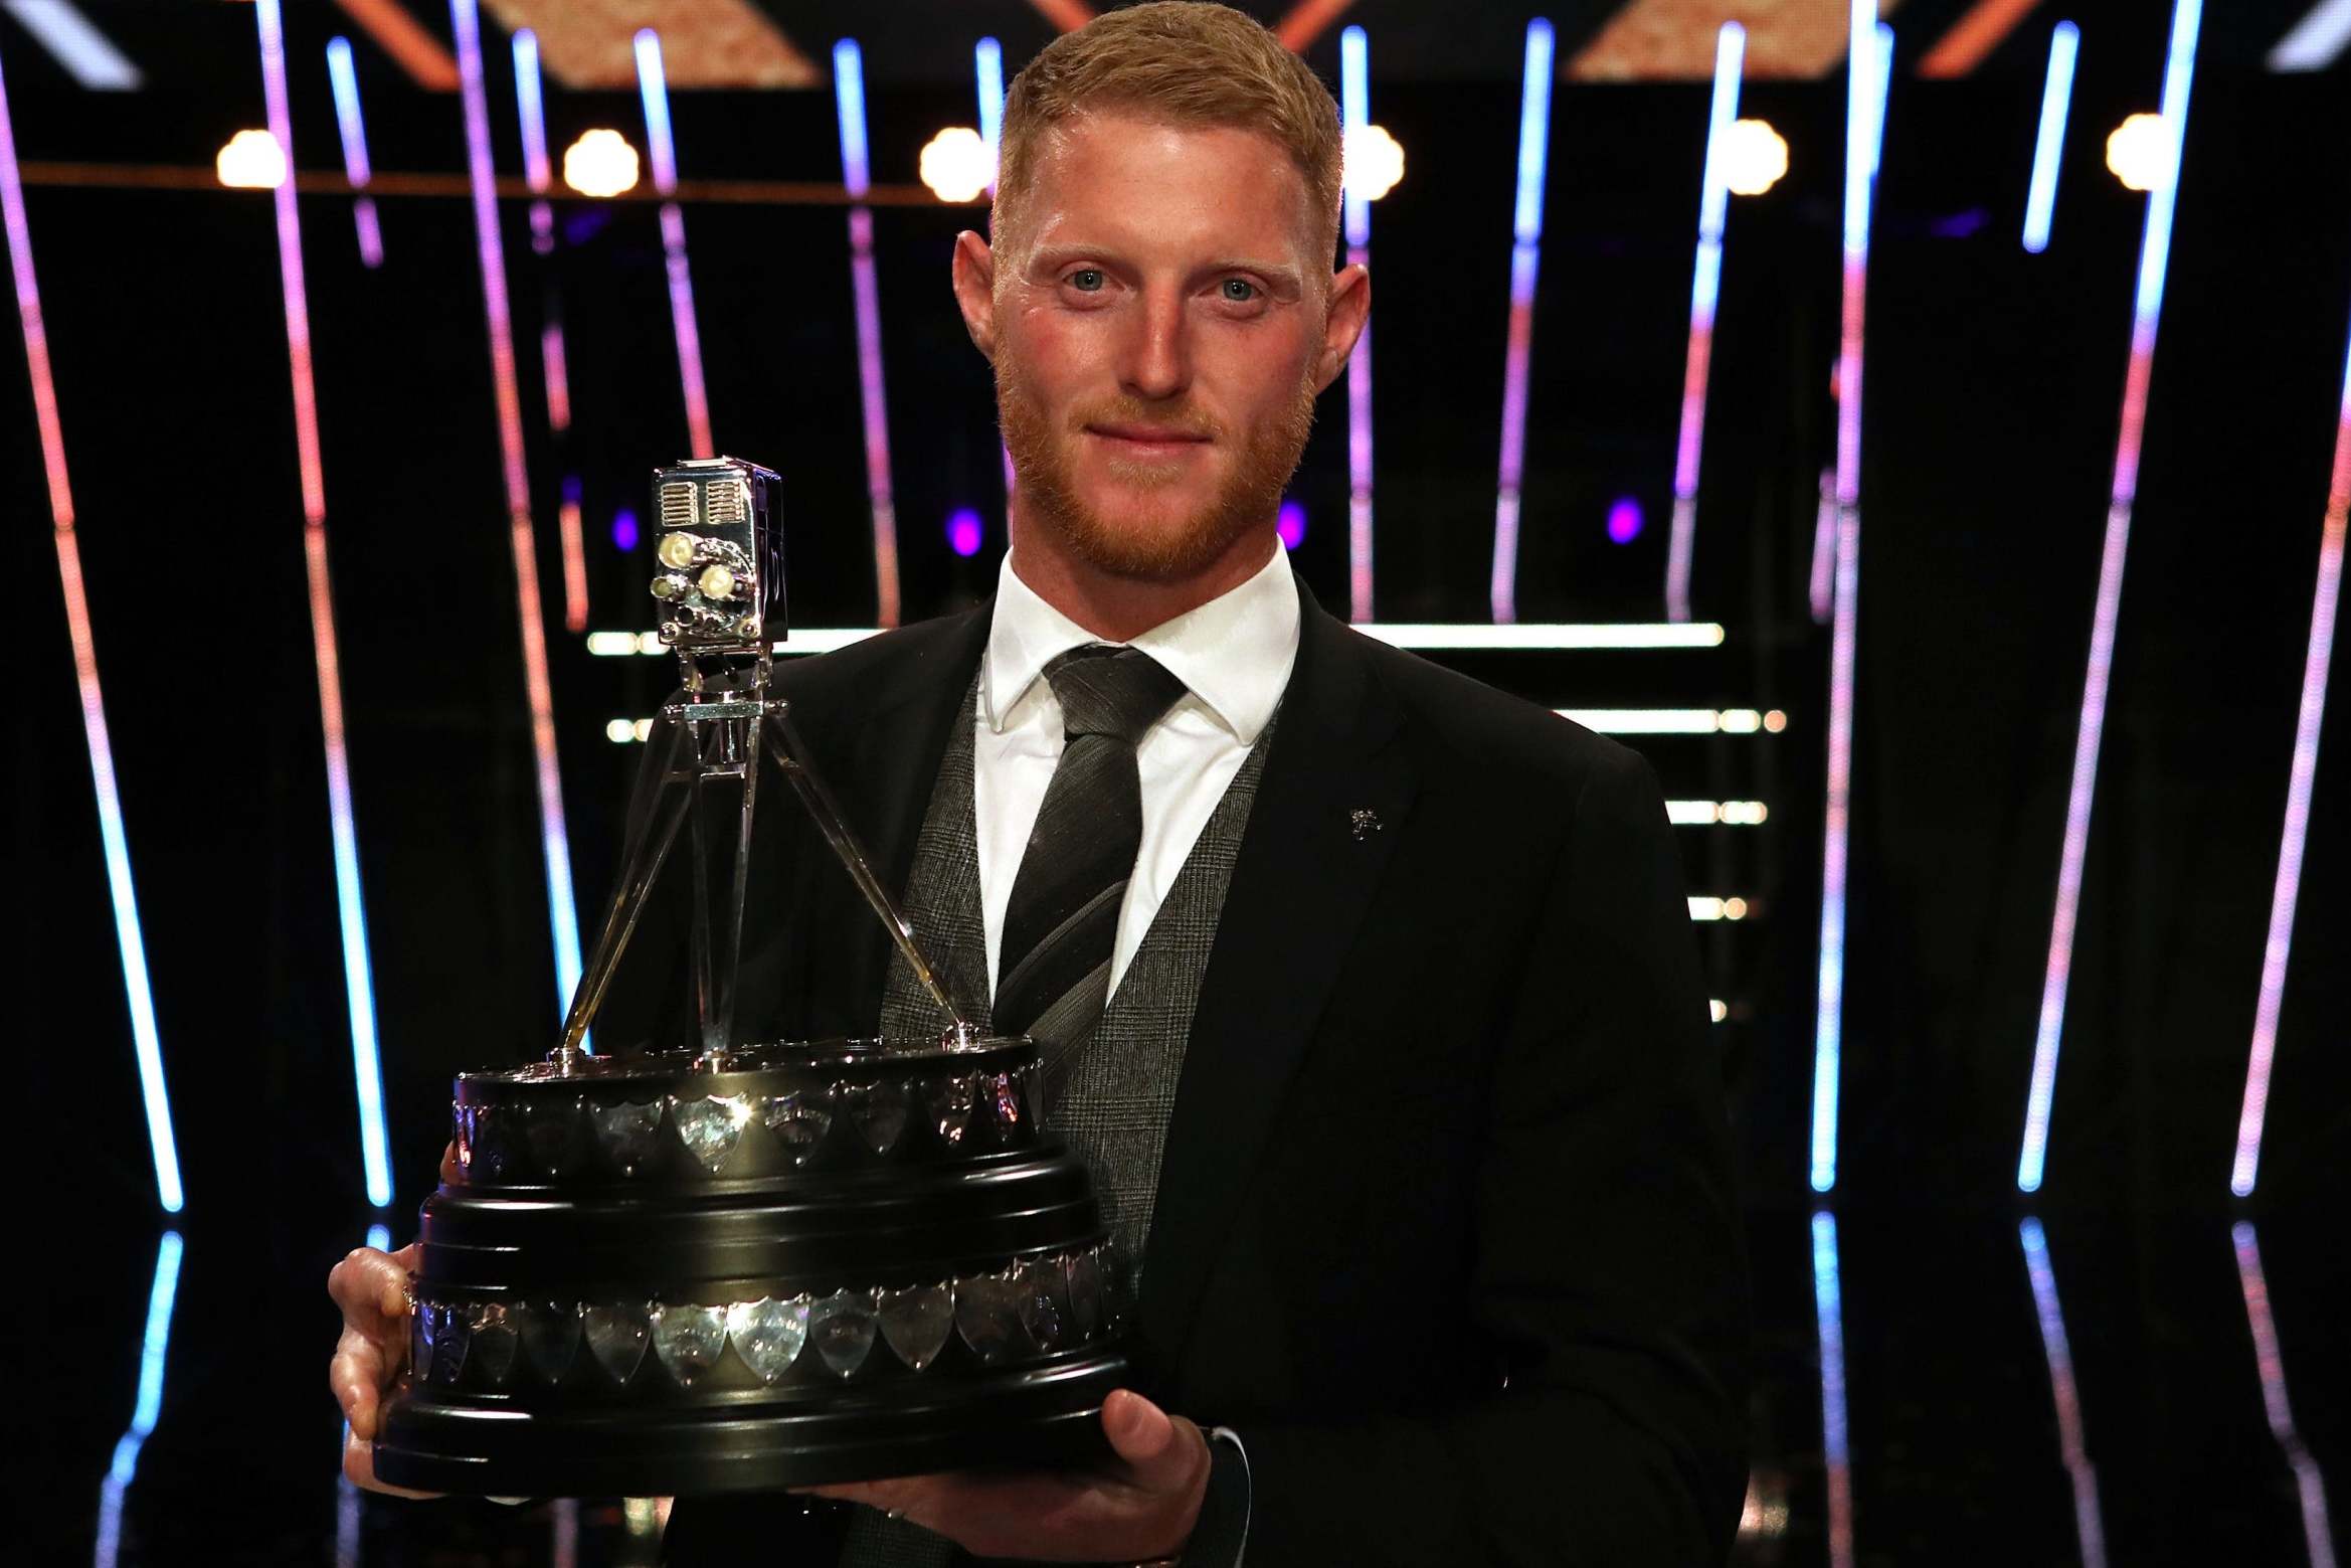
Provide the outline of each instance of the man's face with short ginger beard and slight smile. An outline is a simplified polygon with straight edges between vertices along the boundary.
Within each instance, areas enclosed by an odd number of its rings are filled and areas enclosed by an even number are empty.
[[[1086,115],[1039,146],[992,289],[1023,527],[1176,581],[1272,522],[1345,362],[1319,228],[1253,132]]]

